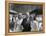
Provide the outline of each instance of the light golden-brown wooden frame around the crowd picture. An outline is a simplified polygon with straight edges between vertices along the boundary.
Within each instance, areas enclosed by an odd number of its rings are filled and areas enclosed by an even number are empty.
[[[43,5],[43,33],[45,33],[45,3],[43,2],[22,2],[22,1],[5,1],[5,35],[23,35],[23,34],[40,34],[42,32],[9,32],[9,3],[15,4],[36,4]]]

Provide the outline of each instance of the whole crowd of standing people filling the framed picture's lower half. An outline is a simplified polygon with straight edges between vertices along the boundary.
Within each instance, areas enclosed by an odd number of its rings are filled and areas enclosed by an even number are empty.
[[[42,31],[42,15],[36,15],[35,13],[17,13],[12,15],[10,20],[11,32],[32,32]]]

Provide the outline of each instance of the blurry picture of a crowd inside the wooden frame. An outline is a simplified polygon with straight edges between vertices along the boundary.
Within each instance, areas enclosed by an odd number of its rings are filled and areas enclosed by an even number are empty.
[[[42,32],[43,5],[9,3],[9,32]]]

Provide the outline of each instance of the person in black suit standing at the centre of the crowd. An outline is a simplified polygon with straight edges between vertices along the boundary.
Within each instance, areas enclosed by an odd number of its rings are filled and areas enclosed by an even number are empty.
[[[22,32],[29,32],[31,30],[31,27],[30,27],[30,21],[28,20],[28,15],[26,14],[26,17],[23,19],[22,21],[22,24],[23,26],[23,30]]]

